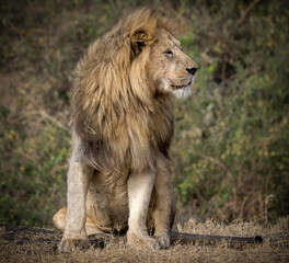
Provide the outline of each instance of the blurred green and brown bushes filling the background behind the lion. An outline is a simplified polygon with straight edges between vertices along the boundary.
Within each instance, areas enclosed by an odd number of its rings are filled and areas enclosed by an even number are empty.
[[[89,43],[144,2],[0,5],[0,220],[51,226],[66,204],[73,68]],[[171,156],[180,214],[221,220],[289,211],[286,1],[148,1],[180,25],[198,64],[174,101]]]

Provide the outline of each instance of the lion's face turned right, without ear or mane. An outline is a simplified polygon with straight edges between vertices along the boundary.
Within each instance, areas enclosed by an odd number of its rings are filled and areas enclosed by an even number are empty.
[[[160,92],[172,92],[177,98],[187,96],[197,70],[196,62],[166,31],[160,31],[158,38],[150,49],[149,76]]]

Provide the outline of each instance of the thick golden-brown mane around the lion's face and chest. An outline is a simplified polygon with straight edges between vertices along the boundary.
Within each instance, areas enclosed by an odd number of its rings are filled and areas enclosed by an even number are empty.
[[[147,70],[160,28],[173,30],[163,16],[140,9],[91,44],[77,66],[71,123],[95,169],[142,171],[167,158],[170,95],[158,92]],[[147,36],[147,52],[134,49],[137,33]]]

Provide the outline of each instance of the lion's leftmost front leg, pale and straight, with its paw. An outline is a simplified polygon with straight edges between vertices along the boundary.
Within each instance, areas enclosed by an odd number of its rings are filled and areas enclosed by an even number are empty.
[[[68,171],[67,222],[62,240],[58,247],[61,252],[89,247],[89,238],[85,231],[85,198],[90,175],[91,168],[79,161],[76,152],[72,152]]]

